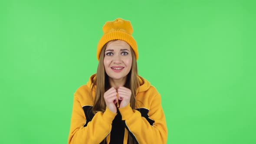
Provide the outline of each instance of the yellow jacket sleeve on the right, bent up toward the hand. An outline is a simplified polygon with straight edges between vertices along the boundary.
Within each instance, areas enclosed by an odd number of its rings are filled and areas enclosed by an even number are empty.
[[[161,96],[154,96],[148,116],[154,120],[151,125],[146,118],[141,117],[141,113],[133,110],[128,104],[124,108],[119,108],[122,120],[125,121],[128,131],[138,141],[139,144],[166,144],[167,126],[164,111],[161,106]]]

